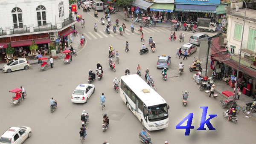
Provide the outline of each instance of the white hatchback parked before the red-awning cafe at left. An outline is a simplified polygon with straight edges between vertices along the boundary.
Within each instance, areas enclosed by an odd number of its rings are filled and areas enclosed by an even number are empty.
[[[12,72],[19,69],[29,69],[29,61],[26,58],[16,58],[3,66],[3,72]]]

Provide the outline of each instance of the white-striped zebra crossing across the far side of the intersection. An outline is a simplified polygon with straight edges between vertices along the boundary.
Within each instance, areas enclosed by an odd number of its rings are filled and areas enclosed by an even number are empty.
[[[92,32],[83,32],[82,34],[84,34],[85,39],[87,40],[95,40],[95,39],[102,39],[102,38],[108,38],[108,37],[115,37],[119,35],[119,30],[116,29],[116,33],[113,32],[113,27],[111,27],[111,32],[108,35],[108,33],[105,32],[105,30],[97,30],[97,32],[92,31]],[[129,35],[137,35],[138,34],[138,27],[134,26],[134,32],[131,32],[130,28],[125,29],[125,33],[123,33],[123,36],[129,36]],[[157,32],[168,32],[167,34],[165,34],[166,36],[169,36],[171,32],[175,32],[175,31],[171,31],[169,27],[152,27],[152,28],[147,28],[147,27],[143,27],[143,33],[144,34],[152,34],[152,33],[157,33]],[[180,32],[184,33],[185,35],[192,35],[193,32],[192,31],[177,31],[176,32],[176,36],[178,37]],[[215,35],[215,33],[211,33],[211,32],[203,32],[204,34],[207,34],[209,36],[213,36]]]

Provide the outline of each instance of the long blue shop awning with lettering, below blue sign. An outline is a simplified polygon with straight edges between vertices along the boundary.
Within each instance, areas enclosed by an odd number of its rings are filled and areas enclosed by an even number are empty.
[[[217,6],[206,6],[206,5],[183,5],[176,4],[176,12],[210,12],[216,13]]]

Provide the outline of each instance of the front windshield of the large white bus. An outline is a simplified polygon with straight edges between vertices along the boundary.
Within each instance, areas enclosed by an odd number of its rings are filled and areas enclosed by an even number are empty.
[[[160,121],[168,118],[166,104],[159,104],[148,107],[148,121]]]

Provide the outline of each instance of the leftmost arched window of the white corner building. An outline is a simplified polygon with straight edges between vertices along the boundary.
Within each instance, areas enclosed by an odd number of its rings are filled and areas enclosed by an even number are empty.
[[[13,20],[13,26],[14,28],[22,28],[23,27],[23,21],[22,21],[22,11],[20,8],[14,8],[12,9],[12,20]]]

